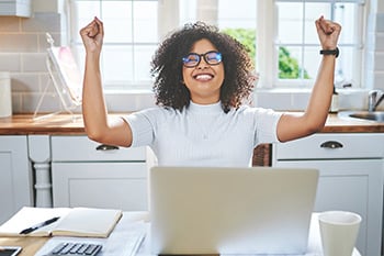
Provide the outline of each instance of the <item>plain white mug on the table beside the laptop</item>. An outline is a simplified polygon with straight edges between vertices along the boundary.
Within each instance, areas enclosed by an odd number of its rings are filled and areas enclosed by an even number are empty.
[[[327,211],[318,216],[324,256],[351,256],[361,216],[347,211]]]

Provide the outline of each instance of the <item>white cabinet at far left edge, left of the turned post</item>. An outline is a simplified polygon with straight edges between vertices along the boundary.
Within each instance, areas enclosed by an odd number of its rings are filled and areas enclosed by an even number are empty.
[[[0,224],[33,205],[32,186],[26,136],[0,136]]]

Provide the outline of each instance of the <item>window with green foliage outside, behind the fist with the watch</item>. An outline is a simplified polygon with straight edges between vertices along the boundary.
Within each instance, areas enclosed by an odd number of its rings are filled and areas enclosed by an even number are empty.
[[[269,5],[271,4],[271,5]],[[267,7],[266,7],[267,5]],[[361,86],[363,54],[363,8],[360,0],[275,0],[259,12],[262,24],[258,42],[263,87],[312,86],[319,66],[319,41],[314,21],[320,15],[339,22],[340,57],[336,66],[337,87]],[[268,30],[274,27],[270,33]],[[266,59],[266,55],[272,62]]]

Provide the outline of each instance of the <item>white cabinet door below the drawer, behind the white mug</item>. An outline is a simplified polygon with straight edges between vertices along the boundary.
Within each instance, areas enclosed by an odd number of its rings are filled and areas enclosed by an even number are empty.
[[[362,216],[357,247],[380,255],[383,209],[383,160],[285,160],[279,167],[312,167],[320,171],[315,211],[345,210]]]

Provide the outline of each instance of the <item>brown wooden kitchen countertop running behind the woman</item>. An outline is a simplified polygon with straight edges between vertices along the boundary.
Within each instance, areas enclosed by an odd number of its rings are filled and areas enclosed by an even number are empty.
[[[122,114],[111,114],[121,116]],[[384,133],[384,123],[340,119],[337,114],[329,114],[321,133]],[[14,114],[0,119],[0,135],[25,134],[86,134],[81,114],[57,114],[47,119],[33,120],[32,114]]]

